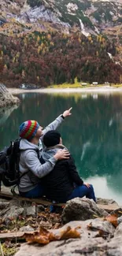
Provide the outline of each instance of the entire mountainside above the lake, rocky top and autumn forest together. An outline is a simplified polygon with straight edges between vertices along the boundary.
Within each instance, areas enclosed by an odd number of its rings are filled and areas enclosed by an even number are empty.
[[[49,83],[73,82],[76,76],[79,80],[87,77],[89,82],[120,82],[121,7],[121,0],[1,0],[2,82],[6,78],[15,80],[16,84],[32,81],[45,86]],[[50,58],[54,59],[57,67],[53,67]],[[109,63],[106,67],[103,63],[105,59]],[[72,74],[69,69],[71,60]],[[91,63],[96,63],[98,74],[95,69],[91,71]],[[82,68],[82,65],[87,68]],[[34,66],[35,72],[31,78],[29,72]],[[98,79],[100,71],[103,72],[102,80]],[[45,81],[42,76],[46,76]]]

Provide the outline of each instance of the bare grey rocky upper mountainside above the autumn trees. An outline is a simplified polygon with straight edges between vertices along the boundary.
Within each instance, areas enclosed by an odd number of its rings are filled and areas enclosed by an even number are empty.
[[[121,0],[1,0],[0,9],[0,24],[17,23],[23,29],[25,24],[44,28],[43,22],[49,22],[54,28],[79,29],[85,35],[107,34],[107,28],[116,34],[122,21]],[[6,25],[4,32],[8,32]]]

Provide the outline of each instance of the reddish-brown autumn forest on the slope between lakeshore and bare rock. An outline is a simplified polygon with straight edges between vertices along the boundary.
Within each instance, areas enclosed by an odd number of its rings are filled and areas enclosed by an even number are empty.
[[[75,78],[88,83],[121,83],[116,54],[114,42],[101,35],[36,31],[0,35],[0,80],[8,87],[21,83],[47,87],[74,83]]]

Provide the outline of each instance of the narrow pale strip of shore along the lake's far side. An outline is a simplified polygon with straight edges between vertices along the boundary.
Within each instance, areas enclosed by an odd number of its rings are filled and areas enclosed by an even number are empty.
[[[8,88],[9,92],[13,95],[27,92],[37,92],[37,93],[121,93],[122,87],[77,87],[77,88],[39,88],[39,89],[20,89],[20,88]]]

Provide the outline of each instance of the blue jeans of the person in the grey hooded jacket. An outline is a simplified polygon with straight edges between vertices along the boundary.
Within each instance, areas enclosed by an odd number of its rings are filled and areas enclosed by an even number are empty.
[[[25,197],[25,198],[41,198],[44,194],[44,189],[41,184],[38,184],[36,187],[31,189],[31,191],[27,192],[20,192],[20,195]]]

